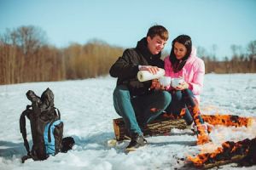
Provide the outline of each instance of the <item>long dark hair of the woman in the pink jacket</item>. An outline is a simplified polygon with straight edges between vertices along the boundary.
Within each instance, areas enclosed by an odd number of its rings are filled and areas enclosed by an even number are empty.
[[[176,55],[174,54],[175,42],[182,43],[185,46],[185,48],[187,48],[187,53],[185,54],[183,59],[177,59]],[[191,51],[192,51],[191,37],[189,37],[187,35],[180,35],[172,41],[172,50],[171,50],[169,59],[172,63],[172,70],[174,72],[178,72],[183,69],[183,66],[186,64],[187,60],[189,59],[189,55],[191,54]]]

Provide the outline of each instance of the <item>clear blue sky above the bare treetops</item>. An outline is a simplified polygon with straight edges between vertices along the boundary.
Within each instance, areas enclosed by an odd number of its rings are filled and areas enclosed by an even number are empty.
[[[48,42],[66,47],[96,38],[124,48],[136,46],[154,24],[172,39],[180,34],[218,59],[230,57],[231,44],[256,40],[256,0],[0,0],[0,33],[6,28],[38,26]]]

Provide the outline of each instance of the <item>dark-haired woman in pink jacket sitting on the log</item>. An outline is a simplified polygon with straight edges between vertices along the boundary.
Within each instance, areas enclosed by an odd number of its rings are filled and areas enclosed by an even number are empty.
[[[203,60],[196,56],[189,36],[181,35],[172,41],[171,54],[165,59],[165,71],[166,77],[183,78],[183,82],[177,87],[171,86],[167,89],[172,94],[172,102],[166,112],[183,116],[188,125],[194,121],[198,144],[207,143],[207,126],[199,110],[205,65]]]

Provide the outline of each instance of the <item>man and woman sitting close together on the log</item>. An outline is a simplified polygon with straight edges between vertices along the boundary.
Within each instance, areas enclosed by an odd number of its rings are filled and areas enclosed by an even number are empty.
[[[113,91],[113,106],[131,135],[126,150],[136,150],[147,143],[142,127],[164,111],[175,115],[182,113],[188,127],[192,124],[196,127],[201,144],[210,140],[199,110],[204,62],[196,56],[191,38],[187,35],[176,37],[172,41],[171,54],[161,60],[161,51],[168,37],[164,26],[150,27],[147,36],[137,42],[137,47],[125,49],[110,68],[110,75],[118,78]],[[165,69],[166,77],[183,77],[184,82],[176,88],[163,88],[155,80],[138,81],[138,71],[156,74],[160,68]]]

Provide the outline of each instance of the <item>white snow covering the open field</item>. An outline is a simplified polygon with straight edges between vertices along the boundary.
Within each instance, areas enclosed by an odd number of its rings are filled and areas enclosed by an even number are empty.
[[[128,141],[109,147],[113,139],[113,118],[119,117],[113,109],[112,93],[116,79],[99,77],[80,81],[32,82],[0,86],[0,169],[95,169],[144,170],[191,169],[183,167],[186,156],[203,150],[214,150],[226,140],[255,138],[253,127],[216,127],[211,133],[213,143],[195,145],[195,136],[174,130],[170,136],[147,137],[149,144],[140,150],[125,154]],[[64,121],[64,136],[73,136],[75,146],[66,154],[50,156],[46,161],[20,162],[26,155],[20,134],[20,113],[31,102],[26,91],[41,95],[46,88],[55,94],[55,106]],[[256,74],[216,75],[205,77],[201,95],[203,114],[234,114],[256,116]],[[27,131],[30,134],[27,121]],[[31,135],[28,136],[31,141]],[[183,160],[183,159],[182,159]],[[235,164],[224,169],[238,169]],[[255,169],[253,167],[242,167]],[[239,167],[241,169],[241,167]]]

